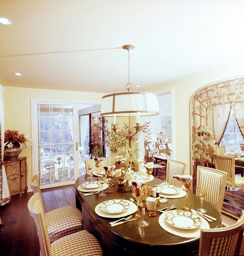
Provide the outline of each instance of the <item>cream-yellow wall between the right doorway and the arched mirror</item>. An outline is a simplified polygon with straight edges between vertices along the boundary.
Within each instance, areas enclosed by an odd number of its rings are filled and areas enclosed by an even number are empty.
[[[175,160],[187,163],[187,174],[190,174],[190,97],[206,84],[237,76],[244,77],[243,61],[147,88],[151,92],[175,88]]]

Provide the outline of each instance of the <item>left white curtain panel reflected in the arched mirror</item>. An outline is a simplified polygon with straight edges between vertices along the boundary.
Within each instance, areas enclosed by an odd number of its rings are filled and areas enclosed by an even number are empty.
[[[227,119],[230,113],[230,104],[222,104],[214,106],[213,108],[213,126],[215,141],[220,143]]]

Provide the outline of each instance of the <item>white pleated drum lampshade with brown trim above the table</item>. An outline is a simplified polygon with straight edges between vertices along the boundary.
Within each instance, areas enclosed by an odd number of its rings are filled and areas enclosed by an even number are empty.
[[[101,116],[158,115],[158,98],[150,92],[117,92],[102,98]]]

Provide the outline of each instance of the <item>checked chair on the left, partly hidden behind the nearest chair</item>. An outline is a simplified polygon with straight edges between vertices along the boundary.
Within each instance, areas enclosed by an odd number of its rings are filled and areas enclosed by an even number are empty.
[[[37,175],[31,178],[29,184],[34,194],[41,194]],[[63,236],[78,232],[83,228],[83,215],[80,210],[73,206],[62,207],[47,212],[44,214],[44,218],[50,241],[56,241]]]

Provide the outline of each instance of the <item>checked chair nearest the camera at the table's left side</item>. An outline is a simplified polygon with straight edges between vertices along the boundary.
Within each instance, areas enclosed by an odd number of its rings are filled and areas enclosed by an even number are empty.
[[[103,251],[97,239],[86,230],[64,236],[52,244],[48,236],[48,228],[43,210],[41,194],[35,193],[28,202],[30,215],[35,219],[37,234],[41,247],[41,256],[63,256],[63,255],[82,255],[82,256],[101,256]]]

